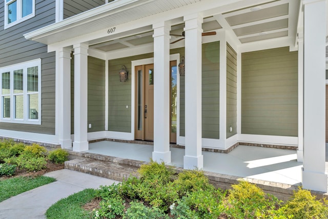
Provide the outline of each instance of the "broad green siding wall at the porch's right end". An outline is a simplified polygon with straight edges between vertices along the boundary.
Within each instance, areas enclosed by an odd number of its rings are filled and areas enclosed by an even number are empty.
[[[262,50],[241,59],[241,133],[297,136],[297,51]]]

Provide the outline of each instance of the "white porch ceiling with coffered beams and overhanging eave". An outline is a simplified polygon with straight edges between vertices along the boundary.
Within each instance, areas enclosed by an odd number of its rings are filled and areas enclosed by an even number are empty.
[[[216,3],[216,8],[211,5]],[[220,4],[221,7],[219,7]],[[181,8],[201,8],[204,14],[203,32],[228,31],[239,45],[273,39],[281,39],[295,45],[299,15],[299,0],[116,0],[94,8],[64,21],[52,24],[39,30],[25,34],[27,39],[44,44],[63,42],[68,38],[76,38],[108,27],[124,25],[132,21],[150,18],[153,15],[172,12],[174,19],[171,34],[182,35],[183,14],[177,13]],[[210,5],[210,6],[207,6]],[[217,13],[220,12],[220,13]],[[174,17],[172,14],[178,14]],[[181,16],[182,15],[182,16]],[[90,48],[102,52],[134,48],[153,43],[152,21],[144,27],[136,27],[135,32],[126,31],[113,38],[99,37],[88,41]],[[144,20],[143,20],[144,21]],[[207,36],[204,36],[207,37]],[[171,42],[183,37],[171,36]],[[183,40],[181,40],[183,42]]]

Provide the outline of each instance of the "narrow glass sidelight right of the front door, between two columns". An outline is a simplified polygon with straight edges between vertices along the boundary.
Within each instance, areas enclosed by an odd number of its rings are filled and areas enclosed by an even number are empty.
[[[177,67],[171,67],[171,132],[176,133]]]

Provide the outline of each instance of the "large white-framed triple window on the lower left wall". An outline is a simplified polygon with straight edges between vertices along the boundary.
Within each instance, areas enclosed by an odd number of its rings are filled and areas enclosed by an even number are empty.
[[[0,68],[0,122],[41,124],[41,59]]]

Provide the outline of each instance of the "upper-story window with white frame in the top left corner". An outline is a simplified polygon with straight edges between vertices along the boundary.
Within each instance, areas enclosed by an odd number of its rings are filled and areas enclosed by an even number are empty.
[[[34,16],[35,0],[5,0],[5,29]]]

